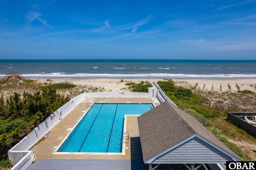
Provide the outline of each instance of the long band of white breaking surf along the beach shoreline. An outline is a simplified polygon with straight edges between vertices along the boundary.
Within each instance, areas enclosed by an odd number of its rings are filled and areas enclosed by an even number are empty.
[[[256,78],[256,74],[209,74],[209,75],[195,75],[195,74],[169,74],[169,73],[144,73],[144,74],[91,74],[91,73],[76,73],[76,74],[67,74],[67,73],[38,73],[38,74],[22,74],[23,77],[29,78],[40,78],[40,77],[78,77],[78,78],[104,78],[104,77],[114,77],[114,78],[148,78],[149,76],[156,78]],[[4,77],[4,75],[0,75]]]

